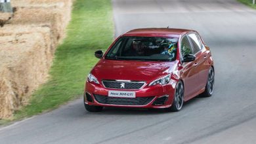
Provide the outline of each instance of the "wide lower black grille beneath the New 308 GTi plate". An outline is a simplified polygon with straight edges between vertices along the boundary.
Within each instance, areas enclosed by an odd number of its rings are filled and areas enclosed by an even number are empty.
[[[138,98],[114,98],[94,94],[96,101],[102,104],[112,105],[147,105],[154,97],[138,97]]]

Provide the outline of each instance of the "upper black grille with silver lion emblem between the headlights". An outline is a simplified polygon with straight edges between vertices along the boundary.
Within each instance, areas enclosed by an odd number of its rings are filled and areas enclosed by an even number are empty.
[[[135,81],[102,81],[105,88],[115,88],[115,89],[126,89],[126,90],[139,90],[144,86],[145,82],[135,82]]]

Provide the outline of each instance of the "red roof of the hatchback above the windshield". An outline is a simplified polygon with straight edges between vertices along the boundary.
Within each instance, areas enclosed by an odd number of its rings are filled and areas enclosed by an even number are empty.
[[[179,37],[188,33],[189,29],[171,29],[171,28],[144,28],[144,29],[133,29],[124,33],[122,36],[133,36],[133,37]]]

